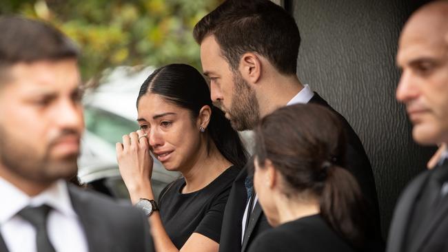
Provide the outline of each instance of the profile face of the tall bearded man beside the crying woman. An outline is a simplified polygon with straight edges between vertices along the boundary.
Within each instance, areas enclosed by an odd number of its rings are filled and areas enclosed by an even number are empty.
[[[201,63],[204,74],[210,78],[214,105],[225,113],[235,130],[253,129],[260,118],[255,92],[221,55],[214,36],[207,36],[201,43]]]

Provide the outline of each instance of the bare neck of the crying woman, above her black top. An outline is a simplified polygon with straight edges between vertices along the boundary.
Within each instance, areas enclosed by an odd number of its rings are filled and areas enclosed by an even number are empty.
[[[224,158],[214,143],[210,144],[208,154],[206,145],[202,145],[194,163],[189,169],[182,171],[185,178],[185,187],[183,187],[182,193],[191,193],[203,189],[230,166],[232,166],[232,163]]]

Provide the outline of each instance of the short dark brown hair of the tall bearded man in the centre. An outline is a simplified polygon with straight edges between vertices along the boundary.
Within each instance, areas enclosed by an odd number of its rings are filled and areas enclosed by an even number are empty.
[[[228,0],[194,26],[198,44],[213,35],[233,70],[241,56],[255,52],[282,74],[296,74],[301,36],[296,21],[269,0]]]

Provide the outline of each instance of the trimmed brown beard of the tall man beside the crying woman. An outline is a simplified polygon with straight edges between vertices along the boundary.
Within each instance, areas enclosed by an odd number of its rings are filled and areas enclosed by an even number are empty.
[[[260,106],[256,100],[255,92],[240,72],[234,72],[233,81],[235,89],[232,105],[227,111],[230,114],[232,127],[239,132],[253,129],[260,120]]]

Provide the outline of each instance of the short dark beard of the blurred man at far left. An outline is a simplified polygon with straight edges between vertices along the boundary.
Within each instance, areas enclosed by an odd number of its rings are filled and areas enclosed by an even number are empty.
[[[0,163],[11,174],[39,185],[49,185],[59,178],[70,179],[77,175],[78,154],[60,158],[52,158],[50,154],[57,140],[73,134],[77,135],[72,130],[61,132],[60,136],[48,144],[44,154],[39,156],[39,151],[32,149],[32,145],[10,138],[0,126]]]

